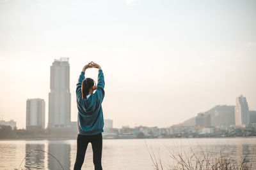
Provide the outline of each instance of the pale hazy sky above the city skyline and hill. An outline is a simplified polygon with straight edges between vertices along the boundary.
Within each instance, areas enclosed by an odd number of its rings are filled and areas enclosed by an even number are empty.
[[[0,115],[26,127],[26,99],[70,59],[71,117],[87,62],[104,71],[114,127],[168,127],[240,94],[256,110],[256,1],[0,0]],[[97,69],[86,71],[97,80]]]

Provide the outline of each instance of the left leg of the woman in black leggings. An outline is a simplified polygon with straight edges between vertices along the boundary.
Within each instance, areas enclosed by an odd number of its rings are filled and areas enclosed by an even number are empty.
[[[88,146],[88,138],[87,136],[77,135],[77,151],[76,151],[76,163],[74,166],[74,170],[80,170],[83,166],[84,155],[86,152],[86,148]]]

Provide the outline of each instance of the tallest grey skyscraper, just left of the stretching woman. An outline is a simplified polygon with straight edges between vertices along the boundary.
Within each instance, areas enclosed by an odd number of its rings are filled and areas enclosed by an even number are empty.
[[[70,126],[70,67],[68,58],[55,59],[51,66],[48,127]]]

